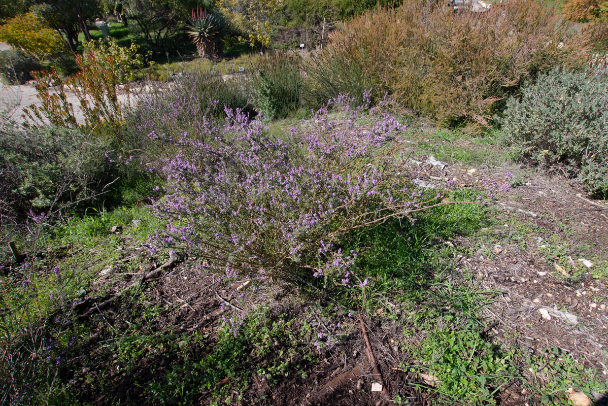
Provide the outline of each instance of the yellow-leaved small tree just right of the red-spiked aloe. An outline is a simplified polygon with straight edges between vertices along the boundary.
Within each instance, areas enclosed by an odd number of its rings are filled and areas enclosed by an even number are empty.
[[[219,11],[226,16],[230,26],[244,33],[244,41],[252,47],[271,43],[270,24],[284,7],[283,0],[218,0]]]

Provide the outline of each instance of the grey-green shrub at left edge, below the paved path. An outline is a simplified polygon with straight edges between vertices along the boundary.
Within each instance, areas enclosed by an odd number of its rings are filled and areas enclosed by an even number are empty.
[[[107,182],[108,145],[78,129],[5,128],[0,137],[0,223],[35,212],[73,207]]]

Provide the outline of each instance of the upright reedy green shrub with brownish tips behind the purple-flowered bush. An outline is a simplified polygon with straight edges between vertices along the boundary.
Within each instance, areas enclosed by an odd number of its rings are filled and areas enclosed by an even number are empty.
[[[285,118],[297,110],[302,92],[298,55],[275,53],[253,66],[255,106],[266,119]]]

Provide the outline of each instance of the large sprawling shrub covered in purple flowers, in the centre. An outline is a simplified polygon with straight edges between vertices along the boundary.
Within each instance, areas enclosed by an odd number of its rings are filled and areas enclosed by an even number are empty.
[[[172,140],[179,153],[165,160],[167,195],[154,205],[168,224],[156,241],[227,277],[343,277],[356,253],[342,252],[340,238],[439,197],[422,201],[410,188],[406,126],[349,103],[345,96],[331,100],[311,125],[282,138],[226,109],[223,125],[207,119],[205,137]]]

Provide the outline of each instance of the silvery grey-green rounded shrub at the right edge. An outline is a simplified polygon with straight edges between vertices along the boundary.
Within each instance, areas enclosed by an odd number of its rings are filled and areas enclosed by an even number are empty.
[[[608,80],[554,69],[511,98],[499,119],[517,159],[558,169],[608,195]]]

